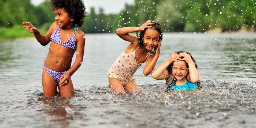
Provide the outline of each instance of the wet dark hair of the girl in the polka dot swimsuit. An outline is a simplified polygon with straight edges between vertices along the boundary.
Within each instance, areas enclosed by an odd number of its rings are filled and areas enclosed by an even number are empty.
[[[141,48],[144,46],[143,37],[144,37],[144,34],[145,34],[147,29],[157,30],[159,32],[159,34],[160,34],[158,42],[160,40],[163,40],[163,33],[162,33],[161,25],[158,22],[153,22],[153,24],[151,26],[152,26],[152,28],[145,28],[144,30],[140,31],[140,34],[138,34],[138,32],[136,33],[136,36],[137,36],[137,38],[139,40]],[[157,46],[154,48],[154,53],[156,53],[156,49],[157,49]]]

